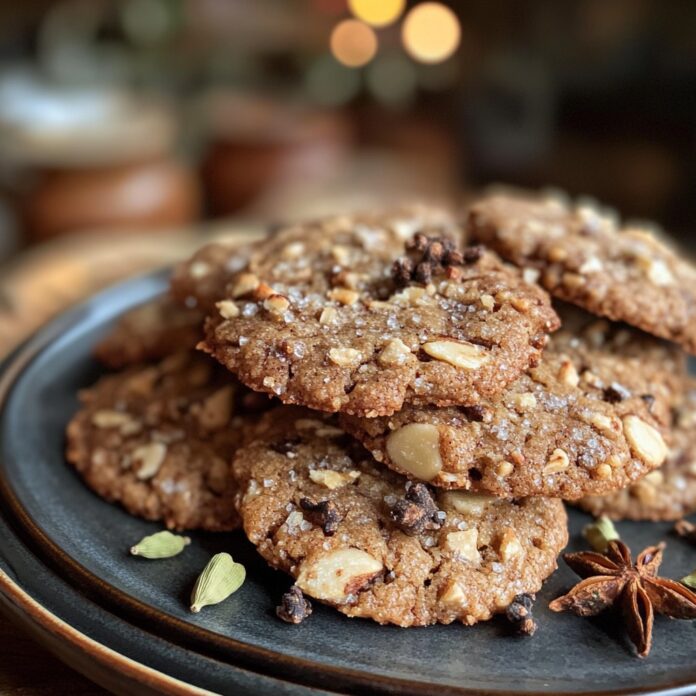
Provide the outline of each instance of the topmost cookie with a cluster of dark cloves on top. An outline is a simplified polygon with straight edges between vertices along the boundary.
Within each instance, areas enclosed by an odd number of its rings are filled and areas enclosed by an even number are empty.
[[[450,233],[418,216],[281,231],[231,282],[202,347],[250,388],[323,411],[476,404],[539,359],[558,318],[541,288]]]

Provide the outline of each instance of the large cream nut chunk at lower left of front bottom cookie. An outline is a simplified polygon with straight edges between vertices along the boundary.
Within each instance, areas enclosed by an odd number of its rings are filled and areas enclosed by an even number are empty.
[[[296,584],[311,597],[342,604],[379,575],[384,566],[374,556],[353,547],[306,558]]]

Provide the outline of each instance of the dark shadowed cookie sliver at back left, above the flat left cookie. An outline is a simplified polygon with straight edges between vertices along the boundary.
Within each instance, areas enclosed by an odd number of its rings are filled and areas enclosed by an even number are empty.
[[[201,339],[204,315],[163,295],[126,312],[97,344],[94,354],[113,369],[158,360],[195,348]]]

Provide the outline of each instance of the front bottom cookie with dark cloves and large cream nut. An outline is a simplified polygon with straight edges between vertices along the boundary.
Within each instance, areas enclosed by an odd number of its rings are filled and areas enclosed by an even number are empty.
[[[473,624],[556,568],[567,541],[559,500],[435,495],[333,423],[281,407],[233,465],[247,536],[307,595],[379,623]]]

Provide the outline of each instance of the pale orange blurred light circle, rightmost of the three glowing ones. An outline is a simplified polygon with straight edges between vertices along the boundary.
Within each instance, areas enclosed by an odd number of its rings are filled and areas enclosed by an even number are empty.
[[[407,15],[401,39],[408,53],[421,63],[441,63],[459,46],[459,20],[439,2],[416,5]]]

